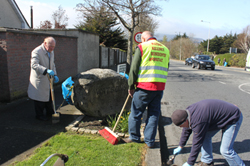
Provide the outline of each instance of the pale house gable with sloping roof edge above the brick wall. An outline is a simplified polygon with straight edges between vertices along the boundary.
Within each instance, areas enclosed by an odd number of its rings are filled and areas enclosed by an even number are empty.
[[[0,27],[30,29],[15,0],[0,0]]]

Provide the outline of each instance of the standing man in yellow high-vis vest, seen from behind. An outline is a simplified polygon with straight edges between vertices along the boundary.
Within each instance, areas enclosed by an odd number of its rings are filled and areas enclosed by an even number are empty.
[[[141,141],[141,118],[147,107],[144,142],[152,148],[157,133],[170,55],[168,48],[158,42],[149,31],[142,33],[141,41],[130,67],[128,92],[133,99],[128,121],[130,136],[124,141],[127,143]]]

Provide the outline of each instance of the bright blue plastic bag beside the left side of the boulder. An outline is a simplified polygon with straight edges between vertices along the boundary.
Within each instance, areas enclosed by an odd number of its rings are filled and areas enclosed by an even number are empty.
[[[74,84],[74,81],[72,81],[72,78],[69,77],[67,78],[63,83],[62,83],[62,95],[63,98],[67,101],[68,104],[73,104],[71,100],[71,94],[72,94],[72,86]]]

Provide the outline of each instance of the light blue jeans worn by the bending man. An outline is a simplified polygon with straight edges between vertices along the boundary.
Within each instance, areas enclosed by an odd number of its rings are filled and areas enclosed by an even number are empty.
[[[222,138],[221,138],[221,146],[220,153],[227,160],[230,166],[245,166],[244,162],[237,155],[237,153],[233,149],[234,140],[238,134],[241,123],[243,120],[242,114],[240,115],[240,119],[237,123],[232,125],[227,125],[225,129],[222,129]],[[213,130],[206,133],[205,139],[203,141],[203,145],[201,147],[201,161],[204,163],[211,163],[213,161],[212,155],[212,137],[220,130]]]

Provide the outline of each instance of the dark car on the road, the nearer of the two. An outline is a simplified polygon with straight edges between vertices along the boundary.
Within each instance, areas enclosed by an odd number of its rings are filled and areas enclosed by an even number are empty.
[[[211,60],[211,58],[208,55],[195,55],[192,63],[193,68],[197,69],[207,69],[210,68],[211,70],[215,69],[215,63]]]

